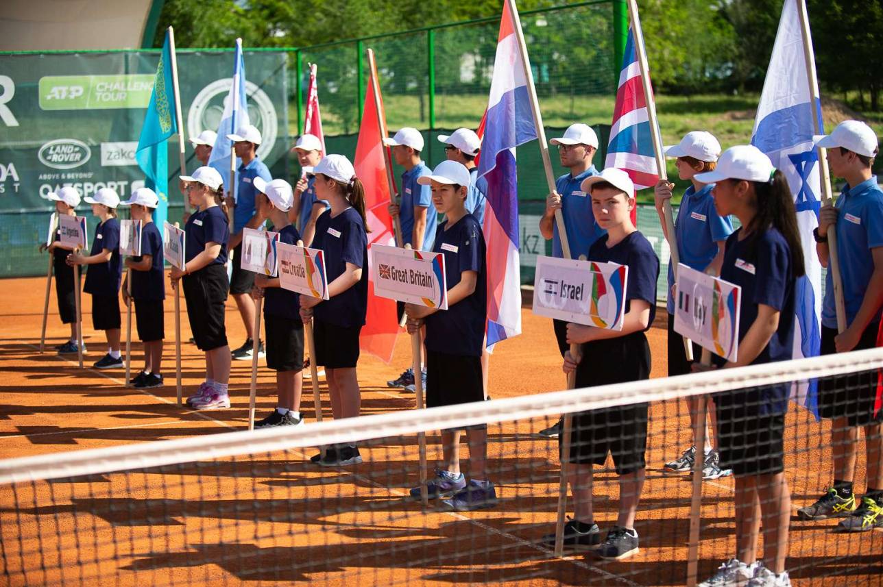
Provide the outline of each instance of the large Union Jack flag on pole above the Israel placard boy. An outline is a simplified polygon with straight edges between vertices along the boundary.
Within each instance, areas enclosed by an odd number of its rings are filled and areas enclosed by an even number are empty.
[[[651,90],[652,91],[652,90]],[[635,184],[636,192],[659,182],[650,114],[641,85],[641,68],[635,51],[635,35],[629,28],[625,43],[623,69],[619,73],[610,142],[604,167],[623,169]],[[631,222],[638,220],[638,209],[631,211]]]

